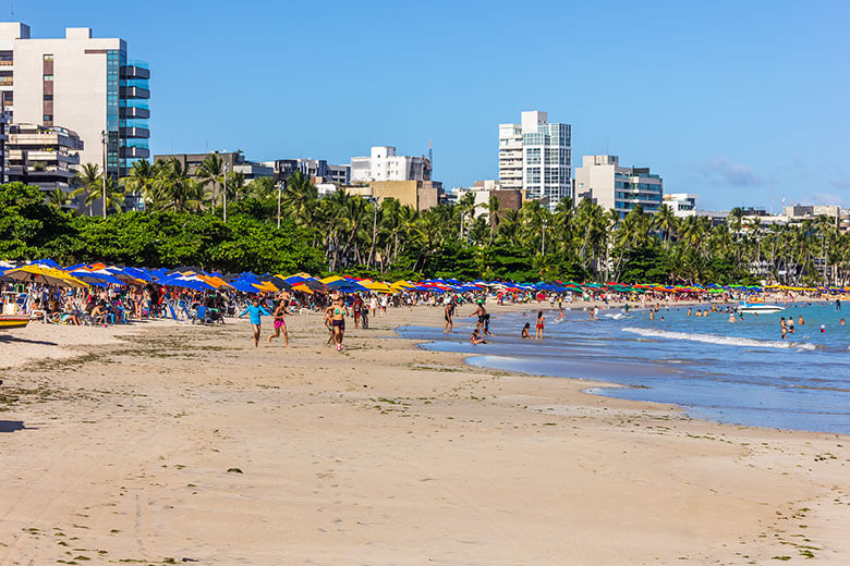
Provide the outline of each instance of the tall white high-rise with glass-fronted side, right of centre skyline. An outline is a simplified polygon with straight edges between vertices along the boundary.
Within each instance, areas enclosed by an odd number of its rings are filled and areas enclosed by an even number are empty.
[[[572,126],[549,123],[546,112],[523,112],[520,124],[499,124],[501,188],[523,189],[550,208],[571,194]]]

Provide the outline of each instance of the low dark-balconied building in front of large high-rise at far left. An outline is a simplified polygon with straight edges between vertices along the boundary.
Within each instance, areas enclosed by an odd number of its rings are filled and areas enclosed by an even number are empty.
[[[72,190],[83,140],[61,126],[13,124],[5,144],[7,177],[41,190]]]

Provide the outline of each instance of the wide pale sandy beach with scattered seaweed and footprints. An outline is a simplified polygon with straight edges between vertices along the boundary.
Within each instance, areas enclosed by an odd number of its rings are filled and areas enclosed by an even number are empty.
[[[269,319],[259,348],[232,320],[10,332],[0,564],[850,563],[850,436],[467,366],[411,323],[442,310],[349,320],[341,354],[318,315],[290,349]]]

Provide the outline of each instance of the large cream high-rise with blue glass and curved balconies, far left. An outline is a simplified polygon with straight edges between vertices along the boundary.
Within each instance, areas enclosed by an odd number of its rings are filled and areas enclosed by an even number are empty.
[[[12,123],[60,124],[80,135],[82,163],[123,176],[149,157],[147,64],[127,59],[126,41],[95,38],[88,27],[32,38],[29,26],[0,23],[0,96]]]

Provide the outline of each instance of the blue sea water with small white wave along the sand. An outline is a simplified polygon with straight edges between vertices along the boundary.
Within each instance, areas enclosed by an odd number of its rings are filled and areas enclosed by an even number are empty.
[[[556,322],[546,308],[545,340],[521,340],[525,322],[534,334],[537,308],[493,316],[495,335],[477,346],[469,343],[472,319],[456,319],[448,335],[420,327],[400,332],[428,341],[427,349],[472,354],[472,365],[617,383],[623,386],[590,391],[676,404],[692,417],[850,434],[850,327],[840,325],[845,315],[833,304],[744,313],[738,322],[726,312],[689,317],[688,307],[663,308],[655,320],[646,310],[603,309],[598,321],[567,311]],[[796,332],[782,340],[780,318],[791,316]]]

